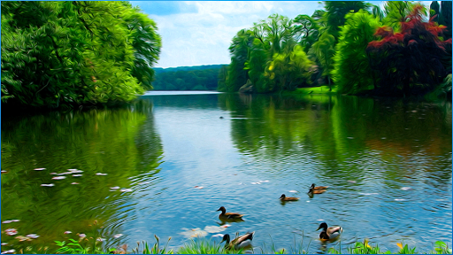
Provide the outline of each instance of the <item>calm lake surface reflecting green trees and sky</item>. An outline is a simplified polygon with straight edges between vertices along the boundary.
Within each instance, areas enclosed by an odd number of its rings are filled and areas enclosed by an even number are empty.
[[[126,108],[2,118],[2,221],[20,220],[1,224],[2,251],[78,233],[131,248],[247,231],[289,252],[301,240],[311,253],[364,238],[394,252],[451,245],[449,102],[148,94]],[[309,197],[313,182],[331,188]],[[283,193],[301,199],[282,204]],[[222,205],[245,221],[219,228]],[[322,221],[342,237],[321,243]],[[19,243],[6,228],[40,237]]]

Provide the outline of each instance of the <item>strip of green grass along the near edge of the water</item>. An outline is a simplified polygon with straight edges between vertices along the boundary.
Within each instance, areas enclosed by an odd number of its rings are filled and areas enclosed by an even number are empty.
[[[59,242],[56,241],[54,244],[50,244],[44,248],[27,247],[24,250],[8,250],[10,254],[243,254],[250,253],[244,250],[226,250],[224,243],[212,242],[210,239],[196,238],[190,240],[188,243],[184,243],[177,249],[169,249],[168,239],[165,244],[161,243],[159,238],[155,236],[153,244],[143,241],[137,243],[136,247],[127,247],[122,245],[121,247],[104,247],[102,238],[85,237],[79,241],[69,239],[69,241]],[[342,246],[339,243],[337,246],[330,248],[326,251],[328,254],[452,254],[451,248],[448,244],[441,241],[434,243],[433,250],[431,251],[420,251],[416,247],[409,247],[404,243],[397,243],[399,251],[388,251],[382,250],[378,244],[369,243],[365,239],[364,242],[357,242],[348,247]],[[293,247],[287,249],[276,249],[273,242],[269,246],[257,246],[254,245],[255,251],[262,254],[307,254],[309,253],[310,243],[304,245],[303,241],[293,244]],[[133,248],[133,249],[131,249]],[[7,250],[4,250],[7,251]],[[4,251],[2,252],[4,254]],[[312,253],[313,251],[311,251]]]

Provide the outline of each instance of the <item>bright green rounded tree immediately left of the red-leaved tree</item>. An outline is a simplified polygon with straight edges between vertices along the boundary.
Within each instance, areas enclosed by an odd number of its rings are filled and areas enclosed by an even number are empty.
[[[368,62],[366,47],[374,39],[374,33],[382,26],[378,18],[360,10],[346,15],[346,23],[335,47],[332,76],[340,93],[356,94],[373,89],[377,75]]]

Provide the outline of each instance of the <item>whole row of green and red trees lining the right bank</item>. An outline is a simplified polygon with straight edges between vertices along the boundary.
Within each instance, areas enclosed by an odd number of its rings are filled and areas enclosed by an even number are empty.
[[[323,4],[311,16],[274,14],[239,31],[219,91],[335,85],[348,95],[420,96],[440,88],[451,95],[441,86],[451,73],[451,2]]]

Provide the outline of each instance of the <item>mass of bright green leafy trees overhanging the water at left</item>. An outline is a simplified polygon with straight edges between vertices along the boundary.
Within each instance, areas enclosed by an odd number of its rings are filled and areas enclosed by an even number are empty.
[[[130,101],[152,88],[156,30],[127,2],[2,2],[2,103]]]

